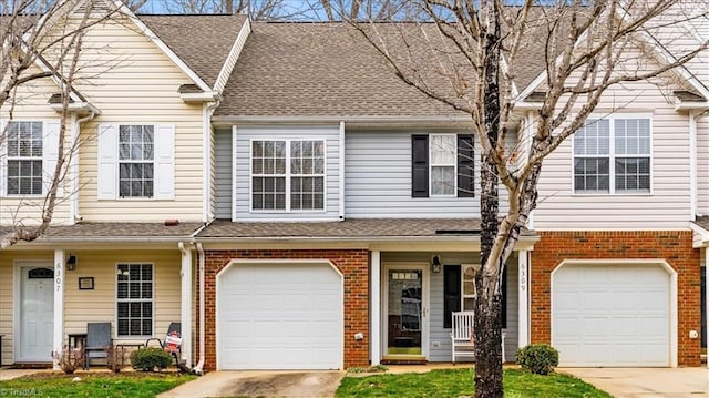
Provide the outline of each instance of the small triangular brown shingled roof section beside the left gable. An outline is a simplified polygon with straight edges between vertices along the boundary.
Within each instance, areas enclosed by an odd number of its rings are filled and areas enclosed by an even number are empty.
[[[242,27],[242,14],[138,16],[209,86],[219,75]]]

